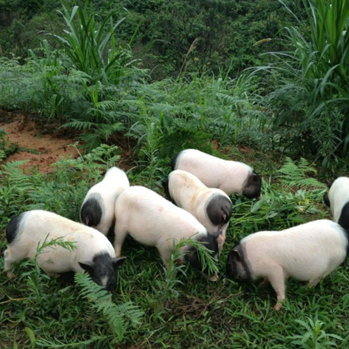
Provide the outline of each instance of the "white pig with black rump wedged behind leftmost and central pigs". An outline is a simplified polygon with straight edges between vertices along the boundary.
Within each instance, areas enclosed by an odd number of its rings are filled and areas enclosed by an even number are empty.
[[[87,192],[80,209],[80,221],[106,235],[114,223],[116,197],[128,187],[125,172],[111,167],[103,180]]]

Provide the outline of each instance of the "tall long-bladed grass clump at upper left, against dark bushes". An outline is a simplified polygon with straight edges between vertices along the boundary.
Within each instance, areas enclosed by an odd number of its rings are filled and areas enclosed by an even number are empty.
[[[88,0],[84,6],[73,6],[73,8],[69,8],[65,0],[61,3],[63,11],[59,13],[67,29],[63,35],[52,34],[52,36],[64,49],[75,68],[91,76],[92,83],[97,80],[118,83],[125,75],[125,68],[135,63],[130,47],[118,45],[115,36],[118,26],[125,18],[114,23],[116,11],[108,11],[99,23]],[[107,4],[105,9],[108,7]],[[105,11],[102,11],[101,17],[104,14]],[[136,32],[138,28],[139,26]],[[132,43],[133,37],[129,44]]]

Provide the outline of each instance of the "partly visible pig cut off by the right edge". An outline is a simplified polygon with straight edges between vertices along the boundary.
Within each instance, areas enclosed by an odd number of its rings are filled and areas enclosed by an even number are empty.
[[[339,177],[331,183],[329,192],[324,194],[324,202],[331,207],[333,221],[349,230],[349,178]]]

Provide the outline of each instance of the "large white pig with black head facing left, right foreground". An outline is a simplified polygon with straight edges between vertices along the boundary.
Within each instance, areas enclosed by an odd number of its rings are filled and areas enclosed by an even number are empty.
[[[246,236],[229,252],[226,277],[269,281],[278,299],[275,309],[280,310],[288,277],[315,286],[343,263],[347,254],[348,233],[339,224],[322,219]]]

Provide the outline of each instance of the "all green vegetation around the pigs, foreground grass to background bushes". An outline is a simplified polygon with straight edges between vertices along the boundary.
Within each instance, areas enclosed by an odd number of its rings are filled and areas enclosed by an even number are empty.
[[[20,212],[78,220],[125,151],[130,183],[158,192],[188,147],[263,176],[262,200],[233,197],[222,278],[243,236],[331,218],[322,181],[348,173],[348,18],[349,0],[0,0],[0,108],[73,130],[81,148],[23,173],[1,132],[1,252]],[[50,280],[35,260],[0,274],[0,348],[348,348],[348,267],[312,290],[288,281],[274,312],[271,289],[166,272],[131,239],[123,252],[112,295],[85,275]]]

